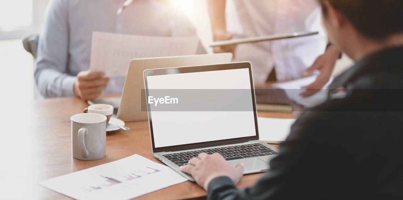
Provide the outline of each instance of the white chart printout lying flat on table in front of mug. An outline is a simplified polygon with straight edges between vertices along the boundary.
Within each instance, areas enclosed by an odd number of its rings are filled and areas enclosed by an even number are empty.
[[[132,155],[39,182],[79,200],[126,200],[187,181],[165,165]]]

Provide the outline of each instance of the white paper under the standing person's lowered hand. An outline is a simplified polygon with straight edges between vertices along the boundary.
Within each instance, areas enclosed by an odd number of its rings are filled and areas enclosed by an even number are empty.
[[[329,82],[327,82],[323,89],[318,93],[310,96],[310,97],[302,97],[301,93],[306,91],[306,89],[302,89],[302,87],[310,85],[312,82],[316,80],[317,76],[308,76],[305,78],[300,78],[297,80],[291,80],[287,82],[281,82],[273,84],[273,87],[284,89],[288,98],[297,102],[299,105],[307,106],[307,107],[315,107],[326,101],[327,98],[327,90],[326,88],[333,81],[333,78],[330,78]]]

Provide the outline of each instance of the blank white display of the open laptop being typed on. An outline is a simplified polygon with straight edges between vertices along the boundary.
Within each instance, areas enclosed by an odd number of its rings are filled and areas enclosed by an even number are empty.
[[[250,64],[242,64],[145,76],[153,147],[257,136]]]

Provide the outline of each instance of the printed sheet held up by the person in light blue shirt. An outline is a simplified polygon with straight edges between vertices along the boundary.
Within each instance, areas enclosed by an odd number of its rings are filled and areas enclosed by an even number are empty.
[[[196,54],[197,37],[155,37],[92,33],[90,70],[106,77],[126,76],[135,58],[185,56]]]

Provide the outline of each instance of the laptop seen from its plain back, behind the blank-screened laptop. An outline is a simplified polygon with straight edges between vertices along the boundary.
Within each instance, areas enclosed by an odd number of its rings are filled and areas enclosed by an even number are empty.
[[[144,91],[143,71],[146,69],[179,67],[189,65],[219,64],[231,62],[231,53],[199,54],[158,58],[139,58],[130,61],[121,98],[103,99],[115,102],[116,117],[125,122],[147,120],[147,109],[141,109],[141,95]],[[119,102],[119,103],[117,103]]]

